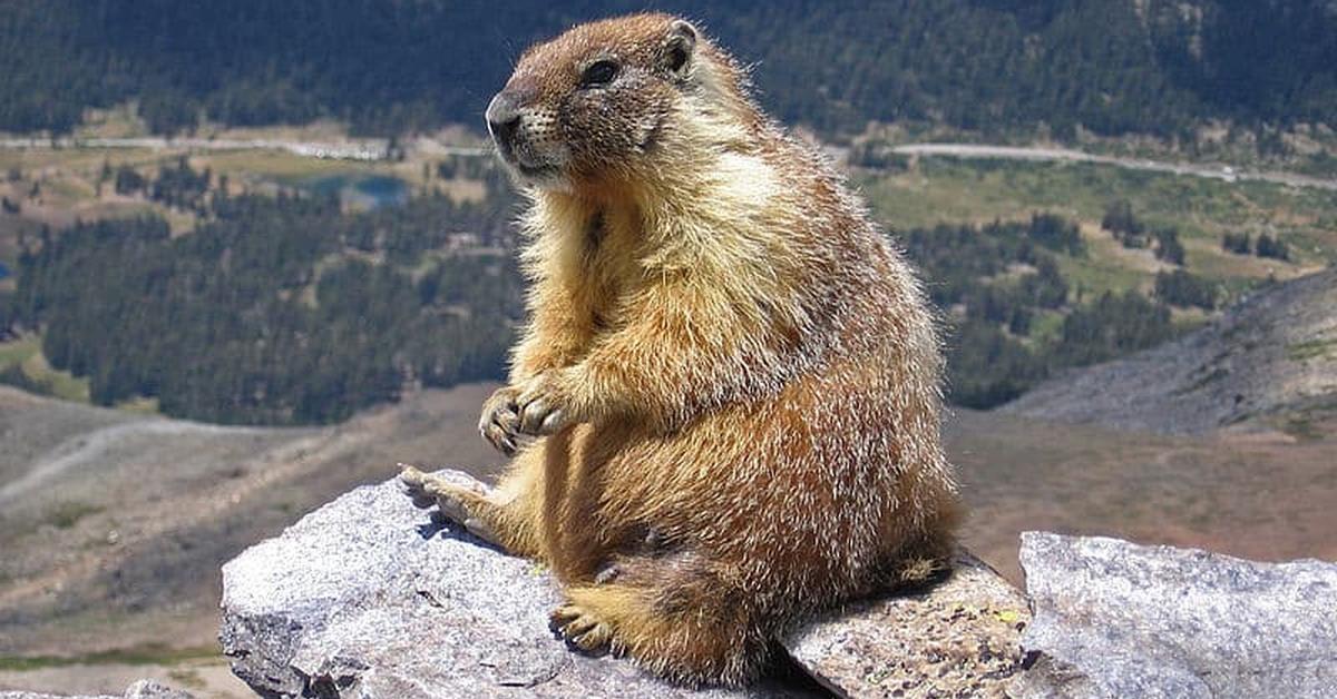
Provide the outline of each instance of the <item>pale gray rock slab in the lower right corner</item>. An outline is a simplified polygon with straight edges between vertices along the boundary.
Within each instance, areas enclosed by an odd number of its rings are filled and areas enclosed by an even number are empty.
[[[1337,696],[1337,565],[1021,535],[1016,696]]]

